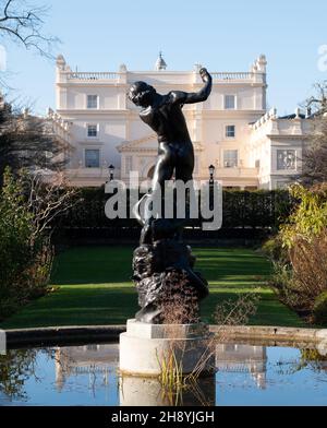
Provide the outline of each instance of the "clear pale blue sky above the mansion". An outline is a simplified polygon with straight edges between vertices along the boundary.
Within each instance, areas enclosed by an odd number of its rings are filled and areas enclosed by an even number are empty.
[[[327,45],[326,0],[33,0],[49,4],[45,31],[58,36],[56,49],[72,69],[153,69],[158,51],[169,70],[247,71],[265,54],[268,104],[292,112],[327,80],[318,70],[318,48]],[[1,41],[0,41],[1,43]],[[44,114],[55,107],[55,64],[7,45],[11,97],[34,102]]]

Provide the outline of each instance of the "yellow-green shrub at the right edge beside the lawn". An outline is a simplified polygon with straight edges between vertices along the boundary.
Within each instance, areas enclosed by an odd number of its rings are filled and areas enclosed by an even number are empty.
[[[272,285],[282,301],[313,311],[327,290],[327,185],[294,185],[291,195],[299,202],[264,251],[275,261]]]

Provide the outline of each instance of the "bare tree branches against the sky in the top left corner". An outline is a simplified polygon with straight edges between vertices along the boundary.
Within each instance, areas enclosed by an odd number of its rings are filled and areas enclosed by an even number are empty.
[[[43,32],[48,11],[25,0],[0,0],[0,40],[12,40],[52,58],[51,48],[59,39]]]

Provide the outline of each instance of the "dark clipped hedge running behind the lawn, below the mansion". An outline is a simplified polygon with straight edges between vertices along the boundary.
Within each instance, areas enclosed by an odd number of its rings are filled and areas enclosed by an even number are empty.
[[[105,205],[110,198],[101,188],[81,189],[82,202],[71,209],[57,223],[62,229],[135,228],[133,218],[113,219],[106,217]],[[223,191],[222,228],[253,228],[277,230],[290,214],[294,201],[288,191]],[[129,201],[129,195],[128,195]],[[201,227],[203,219],[192,221],[193,227]]]

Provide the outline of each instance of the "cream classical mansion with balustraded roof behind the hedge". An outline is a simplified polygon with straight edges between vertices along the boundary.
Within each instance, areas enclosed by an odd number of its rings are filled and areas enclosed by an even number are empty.
[[[247,72],[211,72],[213,94],[206,103],[184,106],[195,150],[194,177],[215,178],[226,188],[277,189],[301,173],[310,121],[296,109],[279,117],[267,109],[267,61],[261,56]],[[72,71],[57,59],[55,132],[73,147],[66,175],[74,186],[96,187],[109,177],[129,182],[130,171],[152,178],[158,143],[126,98],[130,85],[146,81],[159,93],[196,92],[203,83],[193,71],[168,71],[160,55],[154,71]]]

